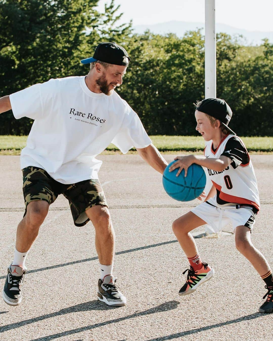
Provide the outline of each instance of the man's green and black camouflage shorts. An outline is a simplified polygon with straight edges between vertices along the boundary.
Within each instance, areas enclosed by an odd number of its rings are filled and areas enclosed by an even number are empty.
[[[31,201],[45,200],[50,205],[59,194],[63,194],[68,199],[76,226],[83,226],[89,221],[85,211],[90,207],[95,205],[108,207],[103,189],[97,179],[63,184],[51,178],[42,168],[29,166],[22,171],[25,214]]]

